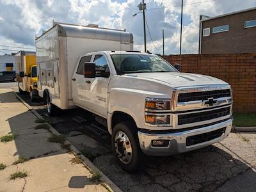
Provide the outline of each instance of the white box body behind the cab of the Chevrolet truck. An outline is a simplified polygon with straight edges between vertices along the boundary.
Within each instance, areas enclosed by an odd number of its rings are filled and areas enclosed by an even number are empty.
[[[95,26],[54,23],[36,38],[38,93],[48,90],[52,104],[61,109],[74,106],[72,74],[77,61],[88,52],[132,50],[131,33]]]

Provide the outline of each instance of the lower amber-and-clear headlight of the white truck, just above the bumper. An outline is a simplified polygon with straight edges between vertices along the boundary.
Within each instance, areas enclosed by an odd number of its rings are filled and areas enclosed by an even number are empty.
[[[152,124],[152,125],[170,125],[170,115],[155,115],[155,114],[146,114],[145,115],[145,122],[147,124]]]

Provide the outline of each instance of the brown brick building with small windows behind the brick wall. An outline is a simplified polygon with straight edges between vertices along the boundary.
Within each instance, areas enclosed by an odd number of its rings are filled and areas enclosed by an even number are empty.
[[[199,53],[256,52],[256,7],[217,17],[200,15]]]

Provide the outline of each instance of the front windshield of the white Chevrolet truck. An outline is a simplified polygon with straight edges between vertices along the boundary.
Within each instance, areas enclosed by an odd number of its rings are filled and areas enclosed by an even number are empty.
[[[170,63],[156,55],[112,54],[111,58],[118,74],[177,72]]]

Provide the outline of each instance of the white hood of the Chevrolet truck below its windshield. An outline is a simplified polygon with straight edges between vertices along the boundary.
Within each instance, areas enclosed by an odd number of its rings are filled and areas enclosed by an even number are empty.
[[[225,81],[215,77],[180,72],[134,73],[126,74],[125,76],[137,77],[138,79],[145,79],[148,81],[154,81],[156,83],[166,83],[173,88],[182,86],[227,84]]]

